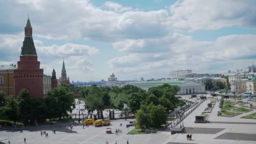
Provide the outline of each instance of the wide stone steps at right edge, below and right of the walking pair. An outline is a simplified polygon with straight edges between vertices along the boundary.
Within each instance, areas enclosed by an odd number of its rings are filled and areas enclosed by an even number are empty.
[[[227,139],[237,141],[256,141],[256,133],[223,133],[214,139]]]

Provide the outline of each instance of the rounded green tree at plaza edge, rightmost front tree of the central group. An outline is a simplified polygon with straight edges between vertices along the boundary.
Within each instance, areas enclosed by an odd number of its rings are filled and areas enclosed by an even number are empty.
[[[166,108],[162,105],[154,105],[149,104],[148,109],[148,117],[150,120],[150,125],[155,128],[160,128],[160,126],[166,123],[167,120],[167,112]]]

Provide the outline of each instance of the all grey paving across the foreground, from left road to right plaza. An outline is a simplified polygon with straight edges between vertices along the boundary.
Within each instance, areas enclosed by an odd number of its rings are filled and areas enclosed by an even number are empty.
[[[184,96],[185,99],[186,96]],[[189,114],[183,121],[185,127],[196,127],[196,128],[226,128],[216,134],[192,134],[192,141],[187,141],[186,133],[176,133],[171,135],[171,125],[162,131],[151,134],[126,134],[128,129],[125,127],[129,123],[129,120],[125,121],[112,121],[110,126],[102,127],[85,127],[82,125],[76,125],[72,129],[72,133],[69,133],[69,128],[59,125],[46,125],[43,127],[34,127],[28,129],[16,129],[16,130],[0,130],[0,140],[5,139],[1,142],[8,144],[8,139],[11,140],[11,144],[24,144],[24,137],[27,139],[27,144],[105,144],[105,141],[109,141],[109,144],[166,144],[168,142],[179,142],[179,143],[194,143],[194,144],[255,144],[255,141],[232,141],[232,140],[221,140],[213,139],[216,136],[224,132],[235,132],[235,133],[256,133],[256,125],[251,124],[219,124],[219,123],[194,123],[195,115],[200,115],[203,109],[207,107],[207,103],[211,100],[206,100],[200,106],[198,106],[191,114]],[[251,112],[246,112],[242,115],[235,117],[218,117],[217,111],[219,110],[218,103],[210,113],[209,121],[222,121],[222,122],[256,122],[256,120],[242,119],[243,115],[248,115]],[[120,123],[123,127],[120,127]],[[113,134],[107,134],[106,128],[112,128]],[[115,129],[122,129],[122,133],[115,135]],[[129,128],[131,131],[133,127]],[[47,131],[49,134],[48,138],[40,136],[40,130]],[[56,130],[56,134],[52,133],[52,130]]]

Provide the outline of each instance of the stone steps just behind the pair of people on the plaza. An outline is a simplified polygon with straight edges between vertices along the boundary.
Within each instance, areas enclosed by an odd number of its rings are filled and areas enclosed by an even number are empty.
[[[216,134],[223,131],[225,128],[192,128],[185,127],[182,133],[202,133],[202,134]]]

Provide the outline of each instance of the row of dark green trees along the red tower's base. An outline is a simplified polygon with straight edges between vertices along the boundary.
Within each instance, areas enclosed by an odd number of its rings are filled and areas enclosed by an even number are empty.
[[[54,88],[48,92],[48,97],[32,98],[27,89],[21,89],[17,99],[13,96],[5,96],[0,92],[0,114],[5,119],[21,121],[25,125],[30,122],[44,122],[46,119],[52,121],[55,118],[61,119],[72,111],[74,104],[74,93],[67,84]]]

